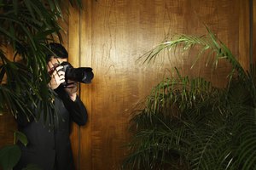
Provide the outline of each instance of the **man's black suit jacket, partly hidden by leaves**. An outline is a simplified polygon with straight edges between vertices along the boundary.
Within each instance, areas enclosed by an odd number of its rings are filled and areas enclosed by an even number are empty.
[[[45,119],[43,111],[35,111],[35,114],[41,113],[38,122],[27,122],[24,117],[17,118],[19,130],[26,134],[28,144],[20,144],[22,154],[15,170],[21,170],[27,164],[36,164],[44,170],[74,169],[69,139],[70,124],[76,122],[79,126],[84,125],[87,111],[79,96],[73,102],[63,88],[57,88],[55,92],[53,102],[59,116],[54,116],[51,124],[50,117]],[[47,120],[46,123],[44,120]]]

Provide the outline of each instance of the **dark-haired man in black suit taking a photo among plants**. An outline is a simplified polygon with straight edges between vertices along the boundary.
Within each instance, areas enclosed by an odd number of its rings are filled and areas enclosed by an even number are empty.
[[[93,78],[91,69],[86,68],[85,73],[88,75],[84,75],[83,69],[79,71],[68,64],[67,50],[60,43],[50,43],[49,48],[55,55],[47,56],[50,77],[48,86],[55,94],[55,98],[51,100],[58,118],[55,118],[50,130],[44,125],[43,116],[38,121],[30,122],[24,117],[17,118],[19,130],[26,134],[28,144],[20,144],[22,154],[16,170],[21,170],[27,164],[38,165],[44,170],[73,170],[70,124],[75,122],[83,126],[87,121],[87,111],[77,91],[78,82],[82,82],[84,78],[85,83],[89,83]],[[66,74],[69,74],[69,77],[66,77]],[[40,113],[43,115],[43,111],[35,109],[35,115]]]

